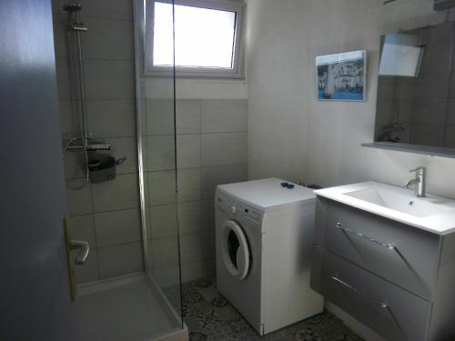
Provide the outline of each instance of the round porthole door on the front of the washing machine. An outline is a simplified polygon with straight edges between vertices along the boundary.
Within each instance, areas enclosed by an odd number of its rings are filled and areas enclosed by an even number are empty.
[[[227,220],[221,227],[221,257],[227,272],[238,281],[248,276],[250,266],[248,239],[242,227],[233,220]]]

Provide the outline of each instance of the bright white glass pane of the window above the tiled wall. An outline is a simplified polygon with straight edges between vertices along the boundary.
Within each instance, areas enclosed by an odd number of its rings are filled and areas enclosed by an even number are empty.
[[[172,5],[155,3],[153,65],[174,65]],[[175,5],[176,66],[232,68],[236,13]]]

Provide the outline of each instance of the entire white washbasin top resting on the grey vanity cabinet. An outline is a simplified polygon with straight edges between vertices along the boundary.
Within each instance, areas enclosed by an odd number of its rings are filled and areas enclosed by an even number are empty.
[[[323,188],[314,193],[431,233],[455,232],[453,199],[432,195],[417,197],[413,190],[376,181]]]

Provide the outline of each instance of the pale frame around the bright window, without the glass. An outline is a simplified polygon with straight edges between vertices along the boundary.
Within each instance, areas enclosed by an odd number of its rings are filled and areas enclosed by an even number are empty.
[[[236,0],[145,0],[146,11],[146,32],[145,32],[145,58],[144,72],[145,75],[168,77],[172,75],[174,66],[156,66],[153,65],[153,48],[154,48],[154,18],[155,3],[166,3],[174,5],[186,5],[220,11],[229,11],[236,13],[236,27],[234,33],[234,51],[232,54],[232,68],[217,67],[188,67],[175,66],[177,77],[188,78],[245,78],[244,75],[244,18],[246,4],[243,1]]]

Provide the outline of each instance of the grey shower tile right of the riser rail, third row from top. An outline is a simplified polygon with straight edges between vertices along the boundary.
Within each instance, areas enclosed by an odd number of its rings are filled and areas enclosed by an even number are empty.
[[[86,59],[87,99],[134,99],[133,62]]]

